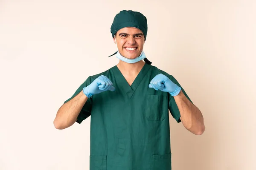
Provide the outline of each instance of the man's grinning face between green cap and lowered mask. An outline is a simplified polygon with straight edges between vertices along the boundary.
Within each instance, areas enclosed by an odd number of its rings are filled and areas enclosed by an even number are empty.
[[[119,53],[128,59],[135,59],[143,51],[145,38],[138,28],[126,27],[117,31],[113,38]],[[115,41],[116,40],[116,41]]]

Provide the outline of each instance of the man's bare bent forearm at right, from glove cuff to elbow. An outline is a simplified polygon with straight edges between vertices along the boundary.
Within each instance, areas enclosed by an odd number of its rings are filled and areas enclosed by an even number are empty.
[[[201,135],[204,133],[204,117],[201,111],[186,98],[182,91],[174,96],[175,102],[180,111],[180,119],[190,132]]]

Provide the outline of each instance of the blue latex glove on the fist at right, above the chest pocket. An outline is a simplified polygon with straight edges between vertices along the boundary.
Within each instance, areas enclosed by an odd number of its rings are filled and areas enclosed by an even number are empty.
[[[172,96],[177,96],[181,90],[179,86],[163,74],[157,74],[156,77],[151,80],[148,87],[154,88],[157,91],[169,92]]]

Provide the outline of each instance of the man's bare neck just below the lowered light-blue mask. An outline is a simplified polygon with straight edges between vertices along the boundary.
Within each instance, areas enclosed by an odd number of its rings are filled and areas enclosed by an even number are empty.
[[[116,66],[117,68],[119,68],[121,72],[125,74],[133,75],[133,74],[138,74],[144,65],[145,65],[145,62],[143,62],[143,60],[132,63],[132,64],[119,60],[119,63]]]

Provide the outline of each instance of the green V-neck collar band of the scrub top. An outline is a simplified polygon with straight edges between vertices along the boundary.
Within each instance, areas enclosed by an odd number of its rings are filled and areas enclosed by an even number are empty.
[[[120,78],[117,80],[119,87],[122,87],[122,89],[128,94],[129,98],[131,98],[132,95],[134,94],[134,91],[136,91],[137,87],[140,85],[140,82],[142,82],[142,79],[148,73],[150,65],[147,63],[143,65],[143,68],[140,70],[139,74],[134,79],[134,82],[131,84],[131,86],[128,84],[128,82],[126,81],[125,77],[122,75],[117,65],[115,65],[113,68],[116,74],[118,75],[118,77]]]

